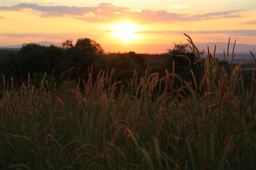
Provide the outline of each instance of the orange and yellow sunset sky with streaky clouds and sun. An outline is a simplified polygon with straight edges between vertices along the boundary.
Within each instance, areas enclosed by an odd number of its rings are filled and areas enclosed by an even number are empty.
[[[105,52],[141,45],[256,45],[256,1],[0,1],[0,46],[90,38]],[[157,49],[159,48],[159,49]],[[166,49],[167,50],[167,49]]]

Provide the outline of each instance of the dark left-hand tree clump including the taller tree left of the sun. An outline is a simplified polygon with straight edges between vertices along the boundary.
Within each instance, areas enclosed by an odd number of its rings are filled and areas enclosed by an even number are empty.
[[[6,80],[13,77],[19,81],[27,79],[28,73],[33,79],[33,72],[52,74],[54,70],[55,77],[59,79],[62,72],[75,66],[71,78],[78,79],[87,75],[91,65],[97,72],[105,67],[102,53],[100,44],[88,38],[78,39],[75,45],[72,40],[66,40],[62,48],[29,43],[24,44],[17,54],[10,53],[1,59],[0,73],[5,75]]]

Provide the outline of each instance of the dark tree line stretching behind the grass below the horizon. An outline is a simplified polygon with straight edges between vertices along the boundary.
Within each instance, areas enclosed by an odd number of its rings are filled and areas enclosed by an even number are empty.
[[[54,76],[58,81],[66,70],[72,69],[70,80],[78,81],[89,76],[88,68],[93,68],[93,77],[103,69],[116,68],[114,79],[129,82],[136,69],[138,76],[143,76],[147,68],[148,74],[159,72],[165,76],[165,69],[173,72],[187,82],[193,81],[191,70],[196,72],[196,80],[203,75],[203,62],[196,62],[199,56],[193,53],[189,44],[175,44],[173,49],[160,54],[161,59],[147,61],[143,54],[135,52],[105,54],[101,45],[89,38],[80,38],[73,44],[72,40],[66,40],[62,47],[50,45],[44,46],[36,43],[24,44],[18,53],[10,52],[7,57],[0,59],[0,74],[5,76],[5,81],[11,78],[17,84],[27,80],[28,74],[38,85],[40,77],[46,72],[48,77]],[[3,84],[3,80],[1,80]]]

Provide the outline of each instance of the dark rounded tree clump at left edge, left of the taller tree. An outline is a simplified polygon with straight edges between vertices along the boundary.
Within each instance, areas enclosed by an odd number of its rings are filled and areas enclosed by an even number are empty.
[[[30,73],[32,76],[33,72],[51,74],[53,70],[58,77],[67,69],[67,65],[62,63],[63,60],[62,48],[29,43],[24,44],[17,54],[9,53],[2,59],[0,72],[3,72],[7,81],[11,77],[16,81],[27,79],[27,75]]]

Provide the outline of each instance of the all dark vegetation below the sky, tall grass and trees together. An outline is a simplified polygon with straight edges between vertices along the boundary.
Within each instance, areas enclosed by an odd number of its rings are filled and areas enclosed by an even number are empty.
[[[80,41],[28,44],[1,60],[1,168],[256,167],[253,54],[251,68],[201,58],[188,37],[190,48],[145,62],[133,52],[103,57],[96,42]]]

